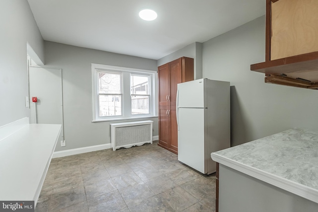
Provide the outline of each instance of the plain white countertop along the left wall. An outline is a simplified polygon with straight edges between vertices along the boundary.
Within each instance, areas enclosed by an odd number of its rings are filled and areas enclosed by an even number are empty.
[[[0,141],[0,200],[31,201],[41,192],[61,125],[30,124]]]

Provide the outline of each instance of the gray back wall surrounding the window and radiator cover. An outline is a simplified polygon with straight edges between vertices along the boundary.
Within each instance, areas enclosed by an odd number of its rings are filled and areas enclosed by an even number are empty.
[[[92,123],[91,64],[103,64],[157,71],[157,61],[80,48],[45,41],[46,67],[61,68],[64,101],[64,138],[66,147],[55,151],[110,143],[110,123]],[[158,136],[158,118],[154,121],[154,136]],[[136,120],[128,120],[136,121]]]

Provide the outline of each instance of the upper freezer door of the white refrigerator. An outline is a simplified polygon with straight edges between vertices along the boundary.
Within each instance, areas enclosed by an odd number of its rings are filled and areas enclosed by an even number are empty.
[[[177,107],[206,108],[206,81],[197,79],[178,84]]]

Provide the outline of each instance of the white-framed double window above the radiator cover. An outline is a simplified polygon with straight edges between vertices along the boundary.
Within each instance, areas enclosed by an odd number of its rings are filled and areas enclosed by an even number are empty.
[[[157,115],[157,72],[92,64],[93,121]]]

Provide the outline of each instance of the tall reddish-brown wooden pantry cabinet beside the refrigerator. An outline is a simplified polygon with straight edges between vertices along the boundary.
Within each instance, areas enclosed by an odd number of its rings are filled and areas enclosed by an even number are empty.
[[[182,57],[158,67],[158,145],[175,154],[178,154],[178,127],[176,119],[177,84],[193,80],[193,66],[193,58]]]

